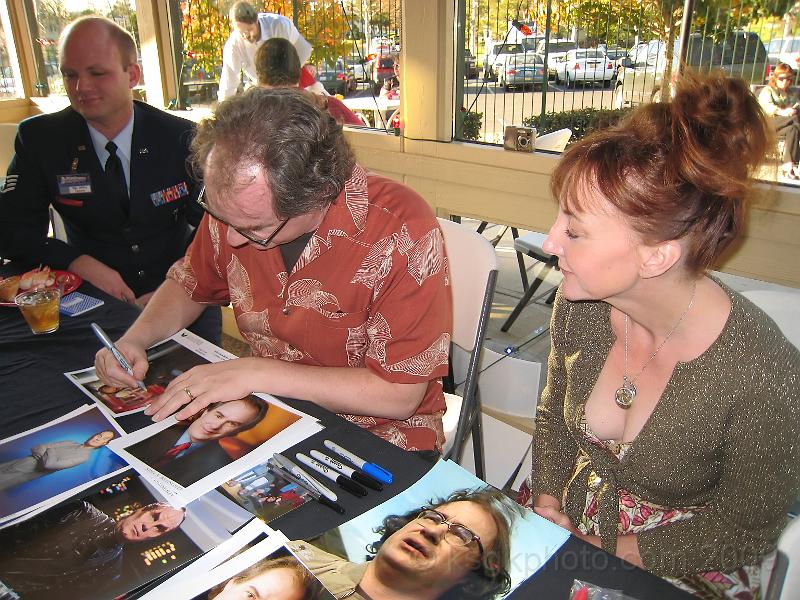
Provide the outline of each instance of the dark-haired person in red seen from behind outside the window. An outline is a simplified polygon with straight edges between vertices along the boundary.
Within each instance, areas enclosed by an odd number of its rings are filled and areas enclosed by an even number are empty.
[[[283,38],[265,41],[256,52],[256,75],[260,87],[298,87],[300,59],[297,57],[297,50]],[[337,122],[343,125],[364,125],[364,122],[336,96],[314,94],[311,97],[320,108],[327,109]]]

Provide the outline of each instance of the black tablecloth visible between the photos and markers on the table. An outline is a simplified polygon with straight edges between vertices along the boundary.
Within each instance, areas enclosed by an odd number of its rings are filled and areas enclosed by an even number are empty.
[[[12,272],[6,265],[0,275]],[[13,272],[18,272],[19,269]],[[94,364],[100,344],[89,329],[98,323],[112,339],[117,339],[136,318],[138,310],[115,300],[89,284],[80,291],[102,298],[105,305],[78,317],[61,317],[55,333],[33,335],[19,313],[12,307],[0,307],[0,439],[42,425],[87,403],[87,397],[70,383],[63,373]],[[290,539],[314,537],[331,527],[377,506],[416,482],[432,463],[414,453],[407,453],[365,432],[359,427],[310,402],[287,400],[295,408],[319,418],[325,429],[304,440],[290,451],[322,449],[324,439],[332,439],[356,454],[388,468],[395,482],[383,492],[366,498],[341,494],[345,515],[339,515],[317,502],[309,502],[270,523]],[[118,419],[126,431],[150,423],[138,413]],[[513,557],[525,561],[526,557]],[[529,578],[511,597],[568,598],[573,579],[623,590],[639,600],[679,600],[689,596],[667,582],[628,565],[577,538],[570,538],[541,570]]]

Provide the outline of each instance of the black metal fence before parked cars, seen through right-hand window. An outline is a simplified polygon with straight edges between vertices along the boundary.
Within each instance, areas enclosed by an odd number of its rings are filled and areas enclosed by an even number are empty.
[[[668,98],[682,2],[460,0],[459,10],[458,139],[500,144],[507,125],[569,127],[575,139],[627,107]],[[797,69],[798,14],[793,0],[698,0],[686,65],[757,89],[777,61]]]

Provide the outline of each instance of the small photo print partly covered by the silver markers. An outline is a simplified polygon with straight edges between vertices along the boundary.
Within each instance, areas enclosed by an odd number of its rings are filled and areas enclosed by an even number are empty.
[[[266,523],[311,500],[308,491],[275,475],[266,464],[245,471],[219,489]]]

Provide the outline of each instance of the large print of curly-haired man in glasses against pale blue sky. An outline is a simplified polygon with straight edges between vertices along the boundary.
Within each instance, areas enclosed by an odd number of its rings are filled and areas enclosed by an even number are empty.
[[[402,494],[287,546],[337,598],[389,589],[477,600],[505,597],[568,537],[459,465],[439,461]]]

